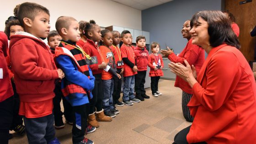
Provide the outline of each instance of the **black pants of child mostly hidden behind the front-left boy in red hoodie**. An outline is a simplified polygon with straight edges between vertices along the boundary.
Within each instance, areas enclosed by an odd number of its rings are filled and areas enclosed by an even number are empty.
[[[16,86],[12,81],[11,81],[11,85],[12,85],[12,90],[14,92],[13,94],[14,106],[13,106],[13,120],[11,123],[10,130],[13,130],[16,126],[23,124],[23,120],[22,120],[23,117],[19,115],[20,97],[16,92]]]

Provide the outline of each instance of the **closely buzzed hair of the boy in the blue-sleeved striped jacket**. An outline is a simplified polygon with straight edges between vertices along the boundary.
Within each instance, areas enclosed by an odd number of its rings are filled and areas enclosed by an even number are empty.
[[[76,19],[71,16],[59,16],[59,18],[55,23],[55,28],[60,36],[62,35],[61,29],[62,28],[69,29],[69,26],[71,25],[72,21],[76,21]]]

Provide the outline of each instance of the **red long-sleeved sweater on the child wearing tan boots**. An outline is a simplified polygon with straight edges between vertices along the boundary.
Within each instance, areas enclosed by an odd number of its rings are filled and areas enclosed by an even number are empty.
[[[99,64],[102,63],[103,58],[101,58],[101,55],[99,53],[99,47],[96,46],[96,44],[92,40],[87,39],[87,42],[83,46],[83,49],[85,53],[89,54],[91,57],[97,57],[98,64],[89,65],[89,67],[91,68],[92,74],[93,75],[101,74],[102,69],[99,69]]]

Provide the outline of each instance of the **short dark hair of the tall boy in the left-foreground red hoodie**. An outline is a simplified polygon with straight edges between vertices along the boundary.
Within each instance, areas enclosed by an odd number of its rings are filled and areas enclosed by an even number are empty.
[[[18,10],[17,10],[17,17],[21,23],[21,26],[24,27],[23,19],[25,17],[33,21],[35,17],[38,15],[38,13],[40,12],[44,12],[50,16],[49,10],[42,5],[38,5],[36,3],[31,3],[31,2],[22,3],[20,6],[18,6]]]

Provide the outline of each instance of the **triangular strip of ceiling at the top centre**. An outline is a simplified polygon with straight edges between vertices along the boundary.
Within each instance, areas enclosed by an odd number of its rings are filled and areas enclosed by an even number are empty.
[[[112,0],[112,1],[130,6],[142,11],[150,7],[161,5],[172,0]]]

